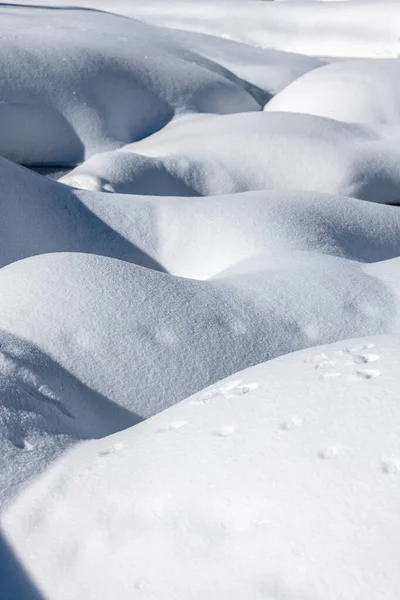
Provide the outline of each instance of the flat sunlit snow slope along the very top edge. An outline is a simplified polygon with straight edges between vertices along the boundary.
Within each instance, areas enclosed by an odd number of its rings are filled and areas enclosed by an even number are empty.
[[[42,5],[44,1],[22,3]],[[51,4],[71,5],[69,0]],[[397,0],[114,0],[112,5],[108,0],[76,0],[74,5],[311,56],[400,56]]]

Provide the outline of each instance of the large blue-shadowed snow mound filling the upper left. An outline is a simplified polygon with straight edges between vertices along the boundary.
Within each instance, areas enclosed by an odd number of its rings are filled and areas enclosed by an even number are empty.
[[[249,87],[167,30],[86,10],[0,7],[0,154],[73,165],[181,113],[260,110]]]

